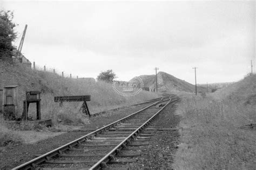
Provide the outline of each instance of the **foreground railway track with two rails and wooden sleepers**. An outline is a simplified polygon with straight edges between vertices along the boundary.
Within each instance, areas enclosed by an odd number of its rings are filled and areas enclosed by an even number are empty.
[[[139,157],[138,147],[149,145],[150,136],[156,133],[161,123],[156,120],[159,113],[177,100],[176,96],[161,98],[14,169],[104,169],[112,164],[130,164]]]

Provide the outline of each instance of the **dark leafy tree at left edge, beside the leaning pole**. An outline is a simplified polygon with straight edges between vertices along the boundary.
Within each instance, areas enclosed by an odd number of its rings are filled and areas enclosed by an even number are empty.
[[[11,60],[12,42],[17,38],[14,28],[16,24],[12,22],[14,14],[11,11],[0,11],[0,59]]]

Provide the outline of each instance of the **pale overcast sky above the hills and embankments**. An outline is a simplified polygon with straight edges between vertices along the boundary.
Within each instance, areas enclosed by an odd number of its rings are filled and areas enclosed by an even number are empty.
[[[194,84],[237,81],[255,64],[255,1],[2,1],[14,11],[22,53],[46,69],[119,80],[154,67]],[[17,39],[18,45],[21,36]],[[255,71],[255,67],[254,67]]]

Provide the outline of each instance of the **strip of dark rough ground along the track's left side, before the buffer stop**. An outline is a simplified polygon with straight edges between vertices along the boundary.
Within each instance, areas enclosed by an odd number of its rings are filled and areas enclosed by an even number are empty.
[[[136,112],[149,104],[143,104],[139,106],[130,106],[122,108],[117,111],[105,113],[98,117],[93,117],[90,121],[91,124],[82,128],[82,131],[67,132],[60,134],[56,137],[48,138],[35,144],[9,144],[0,148],[0,169],[11,169],[18,165],[23,164],[35,158],[35,155],[44,154],[59,146],[62,146],[72,140],[75,140],[83,135],[89,133],[92,130],[96,130],[98,127],[107,125],[115,120],[125,117],[133,112]],[[86,131],[87,130],[87,131]]]

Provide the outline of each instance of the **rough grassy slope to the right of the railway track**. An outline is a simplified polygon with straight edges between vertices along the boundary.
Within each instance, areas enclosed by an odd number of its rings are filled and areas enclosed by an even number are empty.
[[[256,75],[207,96],[183,96],[174,169],[255,169]]]

